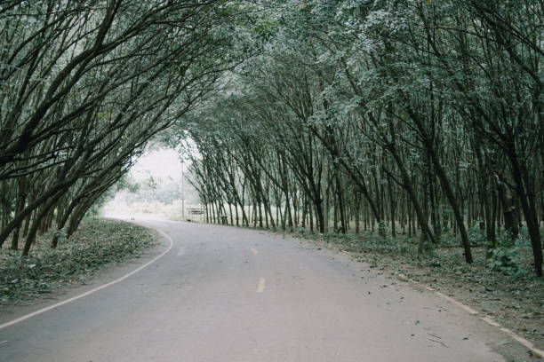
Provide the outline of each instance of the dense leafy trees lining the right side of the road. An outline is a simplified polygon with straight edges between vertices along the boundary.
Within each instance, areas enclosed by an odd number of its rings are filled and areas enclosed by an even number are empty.
[[[296,3],[296,4],[295,4]],[[541,2],[305,1],[260,9],[227,91],[185,114],[212,223],[371,230],[542,276]]]

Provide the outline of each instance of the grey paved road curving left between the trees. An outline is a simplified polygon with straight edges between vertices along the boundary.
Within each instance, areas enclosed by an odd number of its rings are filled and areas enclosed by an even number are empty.
[[[126,279],[0,329],[1,361],[461,362],[526,356],[517,342],[459,306],[379,275],[346,253],[228,226],[136,222],[165,232],[172,248]],[[170,240],[162,238],[156,255]],[[66,297],[137,266],[111,271]],[[59,302],[4,313],[0,324]]]

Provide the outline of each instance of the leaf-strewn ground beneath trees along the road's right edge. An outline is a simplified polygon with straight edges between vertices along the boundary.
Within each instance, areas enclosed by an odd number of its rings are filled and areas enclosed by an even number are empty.
[[[475,262],[466,264],[462,248],[452,245],[451,237],[420,254],[417,240],[404,236],[388,240],[372,232],[300,236],[315,240],[317,248],[348,252],[379,274],[407,277],[432,287],[544,349],[544,279],[533,276],[532,251],[526,243],[516,248],[519,272],[511,276],[488,267],[484,245],[472,248]]]

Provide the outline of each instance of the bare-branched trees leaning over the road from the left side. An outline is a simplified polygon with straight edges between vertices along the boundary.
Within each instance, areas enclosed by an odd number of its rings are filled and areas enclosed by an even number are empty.
[[[225,0],[4,1],[0,247],[24,262],[38,234],[70,240],[149,139],[243,59],[240,13]]]

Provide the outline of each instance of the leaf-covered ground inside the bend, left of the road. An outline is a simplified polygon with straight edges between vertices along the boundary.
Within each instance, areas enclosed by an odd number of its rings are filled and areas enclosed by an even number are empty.
[[[104,219],[85,220],[56,249],[49,248],[51,240],[51,232],[39,235],[28,258],[0,249],[0,307],[80,285],[104,266],[140,257],[156,242],[144,227]]]

